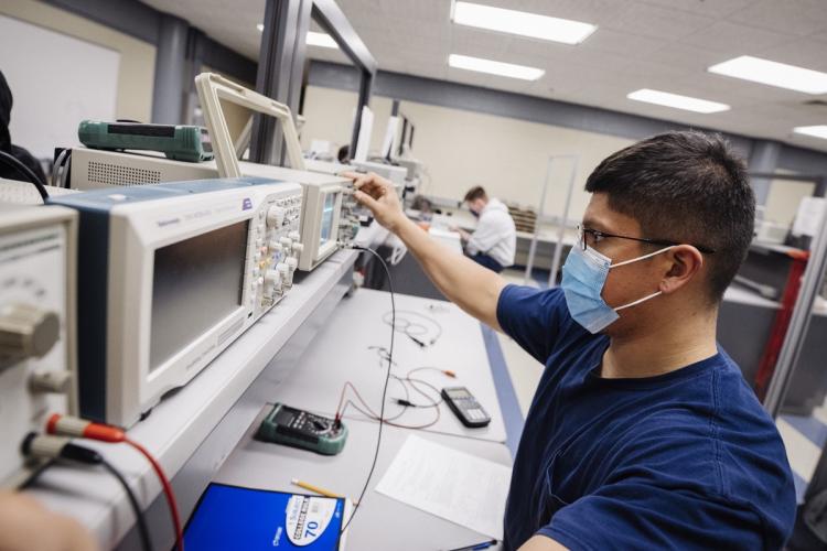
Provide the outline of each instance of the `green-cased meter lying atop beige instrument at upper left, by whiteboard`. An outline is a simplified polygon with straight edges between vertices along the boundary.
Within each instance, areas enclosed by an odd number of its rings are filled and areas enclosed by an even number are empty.
[[[77,137],[92,149],[158,151],[168,159],[189,162],[210,161],[214,156],[204,127],[84,120]]]

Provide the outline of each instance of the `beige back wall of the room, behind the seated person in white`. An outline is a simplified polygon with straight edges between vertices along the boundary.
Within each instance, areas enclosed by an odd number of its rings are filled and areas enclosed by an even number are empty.
[[[312,139],[336,145],[350,141],[356,95],[311,86],[304,100],[307,123],[302,147]],[[390,99],[375,96],[372,150],[378,151],[390,114]],[[589,201],[582,191],[589,173],[610,153],[632,143],[612,136],[571,130],[524,120],[404,101],[402,111],[416,125],[414,155],[423,161],[430,183],[423,192],[461,198],[472,185],[525,206],[536,206],[546,177],[548,156],[576,153],[580,166],[574,181],[571,217],[579,218]],[[546,213],[559,214],[566,196],[571,164],[561,162],[552,172]]]

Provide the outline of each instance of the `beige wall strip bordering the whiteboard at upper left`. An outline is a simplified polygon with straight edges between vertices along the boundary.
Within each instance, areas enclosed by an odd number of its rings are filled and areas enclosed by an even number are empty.
[[[120,52],[116,116],[147,122],[152,119],[154,45],[35,0],[0,2],[0,13]],[[55,52],[55,60],[61,63],[60,52]]]

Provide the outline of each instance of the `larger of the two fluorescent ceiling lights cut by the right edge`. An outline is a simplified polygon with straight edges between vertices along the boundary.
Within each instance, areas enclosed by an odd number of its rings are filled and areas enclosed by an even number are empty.
[[[796,67],[786,63],[771,62],[751,55],[742,55],[712,65],[707,71],[805,94],[827,94],[827,73]]]

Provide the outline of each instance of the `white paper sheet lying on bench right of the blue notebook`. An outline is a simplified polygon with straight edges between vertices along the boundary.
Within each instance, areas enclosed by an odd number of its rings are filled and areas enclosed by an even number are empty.
[[[511,476],[511,467],[410,435],[376,491],[502,540]]]

